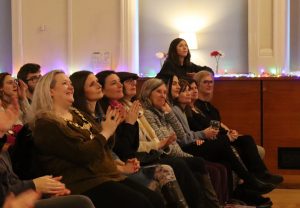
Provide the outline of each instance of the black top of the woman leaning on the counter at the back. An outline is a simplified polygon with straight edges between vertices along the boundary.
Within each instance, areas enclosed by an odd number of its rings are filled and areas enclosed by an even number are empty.
[[[192,62],[189,65],[179,66],[178,64],[175,64],[171,60],[167,59],[164,62],[160,72],[157,74],[157,77],[174,74],[174,75],[178,76],[178,78],[182,78],[182,77],[187,76],[187,73],[197,73],[202,70],[206,70],[206,71],[209,71],[212,74],[214,74],[213,70],[207,66],[199,66]]]

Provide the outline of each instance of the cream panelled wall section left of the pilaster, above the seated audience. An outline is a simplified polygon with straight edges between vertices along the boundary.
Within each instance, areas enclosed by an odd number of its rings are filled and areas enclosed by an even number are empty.
[[[119,60],[119,0],[12,0],[13,64],[42,65],[43,72],[94,70],[94,52]],[[99,55],[96,57],[100,65]],[[15,71],[15,73],[17,70]]]

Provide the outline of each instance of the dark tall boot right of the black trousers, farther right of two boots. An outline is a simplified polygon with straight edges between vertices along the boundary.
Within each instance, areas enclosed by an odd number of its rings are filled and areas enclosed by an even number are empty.
[[[201,175],[201,186],[203,188],[204,201],[206,208],[220,208],[220,202],[214,187],[211,184],[210,177],[208,174]]]

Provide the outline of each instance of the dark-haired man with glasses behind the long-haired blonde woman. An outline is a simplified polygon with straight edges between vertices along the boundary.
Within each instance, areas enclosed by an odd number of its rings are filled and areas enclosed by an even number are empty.
[[[27,85],[26,96],[29,103],[31,103],[34,88],[41,77],[41,66],[35,63],[24,64],[18,71],[17,78]]]

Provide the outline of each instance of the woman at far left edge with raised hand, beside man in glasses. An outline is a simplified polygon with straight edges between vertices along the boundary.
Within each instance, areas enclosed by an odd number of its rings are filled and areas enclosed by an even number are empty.
[[[17,133],[21,130],[23,123],[26,122],[26,114],[30,109],[26,97],[26,89],[27,86],[23,81],[15,80],[9,73],[0,73],[0,100],[2,101],[0,110],[4,110],[14,97],[18,99],[21,108],[19,118],[15,121],[12,128],[7,131],[8,144],[14,144]],[[7,149],[7,146],[4,149]]]

